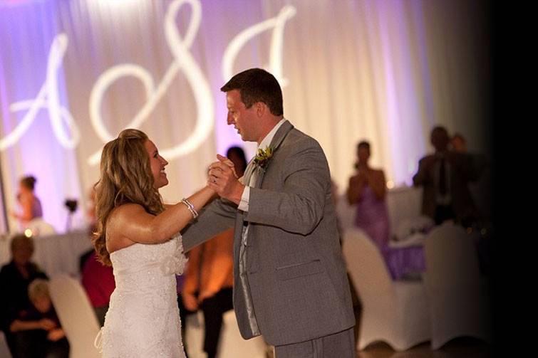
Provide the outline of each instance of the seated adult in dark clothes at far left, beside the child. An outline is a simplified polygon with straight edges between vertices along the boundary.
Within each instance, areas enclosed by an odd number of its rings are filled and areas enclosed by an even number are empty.
[[[9,327],[21,314],[31,308],[28,297],[28,286],[36,278],[47,278],[38,266],[31,262],[33,255],[33,240],[24,235],[17,235],[11,241],[10,263],[0,270],[0,322],[1,330],[6,335],[6,341],[11,355],[16,355],[15,337]]]

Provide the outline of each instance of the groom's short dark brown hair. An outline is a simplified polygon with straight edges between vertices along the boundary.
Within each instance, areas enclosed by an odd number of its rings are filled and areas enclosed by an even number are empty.
[[[284,115],[279,81],[262,68],[250,68],[237,73],[220,90],[222,92],[239,90],[241,101],[247,108],[256,102],[263,102],[269,107],[272,115]]]

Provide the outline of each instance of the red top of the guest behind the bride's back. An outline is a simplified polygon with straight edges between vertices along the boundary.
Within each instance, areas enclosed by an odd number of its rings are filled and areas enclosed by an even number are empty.
[[[95,251],[93,251],[83,265],[81,278],[99,325],[103,326],[110,303],[110,295],[116,287],[113,268],[100,263]]]

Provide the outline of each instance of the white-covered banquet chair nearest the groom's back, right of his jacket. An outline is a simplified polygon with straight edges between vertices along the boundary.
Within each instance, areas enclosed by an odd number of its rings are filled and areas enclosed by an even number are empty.
[[[381,252],[360,229],[344,233],[343,255],[363,305],[359,350],[383,341],[400,351],[430,340],[422,282],[391,280]]]

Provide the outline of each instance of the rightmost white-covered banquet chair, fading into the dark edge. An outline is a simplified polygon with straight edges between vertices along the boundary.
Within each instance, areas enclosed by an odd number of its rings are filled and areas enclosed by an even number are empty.
[[[461,226],[444,223],[426,236],[425,258],[432,348],[462,336],[490,342],[489,285],[472,238]]]

